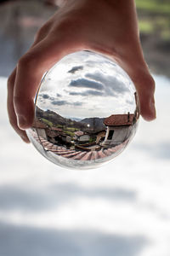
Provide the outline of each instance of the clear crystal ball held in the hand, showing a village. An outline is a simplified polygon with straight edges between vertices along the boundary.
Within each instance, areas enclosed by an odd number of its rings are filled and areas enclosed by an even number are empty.
[[[90,169],[122,153],[138,121],[138,96],[127,73],[85,50],[66,55],[43,76],[26,132],[54,164]]]

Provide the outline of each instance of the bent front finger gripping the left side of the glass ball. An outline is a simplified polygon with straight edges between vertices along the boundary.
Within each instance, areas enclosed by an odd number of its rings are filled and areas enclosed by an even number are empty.
[[[34,98],[42,75],[64,54],[65,44],[61,40],[56,42],[53,38],[45,38],[20,59],[14,84],[14,111],[20,129],[31,127]]]

